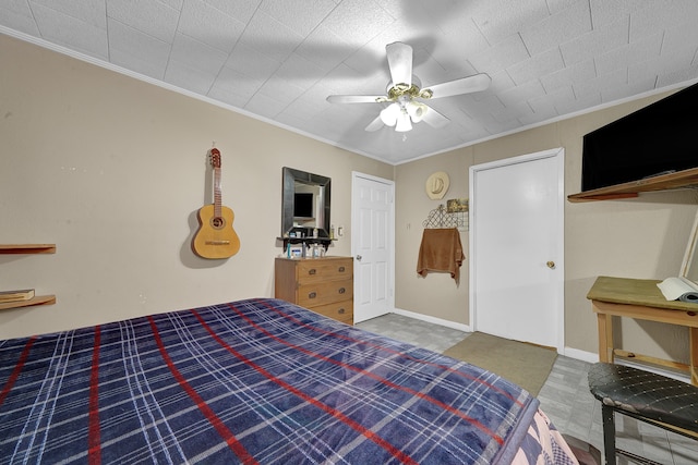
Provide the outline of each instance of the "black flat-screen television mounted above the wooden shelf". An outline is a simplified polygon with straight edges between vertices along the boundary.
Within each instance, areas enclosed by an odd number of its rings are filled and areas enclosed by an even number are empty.
[[[698,84],[583,136],[581,189],[698,167]]]

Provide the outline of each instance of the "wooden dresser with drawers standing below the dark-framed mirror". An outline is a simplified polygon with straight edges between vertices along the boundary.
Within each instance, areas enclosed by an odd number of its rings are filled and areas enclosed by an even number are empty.
[[[276,258],[274,294],[353,325],[353,258]]]

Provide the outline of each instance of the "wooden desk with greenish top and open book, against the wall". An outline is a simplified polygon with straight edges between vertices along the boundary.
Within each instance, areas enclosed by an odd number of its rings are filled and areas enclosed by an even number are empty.
[[[618,352],[613,343],[613,317],[681,325],[688,328],[690,364],[662,360],[634,354],[636,359],[678,368],[690,375],[690,382],[698,386],[698,304],[666,301],[657,286],[658,280],[599,277],[587,298],[597,314],[599,323],[599,360],[613,363]]]

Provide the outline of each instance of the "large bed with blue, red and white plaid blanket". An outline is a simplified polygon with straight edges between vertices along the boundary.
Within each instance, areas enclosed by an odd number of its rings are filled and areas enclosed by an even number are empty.
[[[516,384],[273,298],[0,341],[0,462],[577,463]]]

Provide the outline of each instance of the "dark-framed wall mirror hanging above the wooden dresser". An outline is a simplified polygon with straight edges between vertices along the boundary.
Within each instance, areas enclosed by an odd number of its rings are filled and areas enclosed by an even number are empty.
[[[281,192],[281,236],[303,232],[320,237],[329,234],[330,179],[284,167]]]

